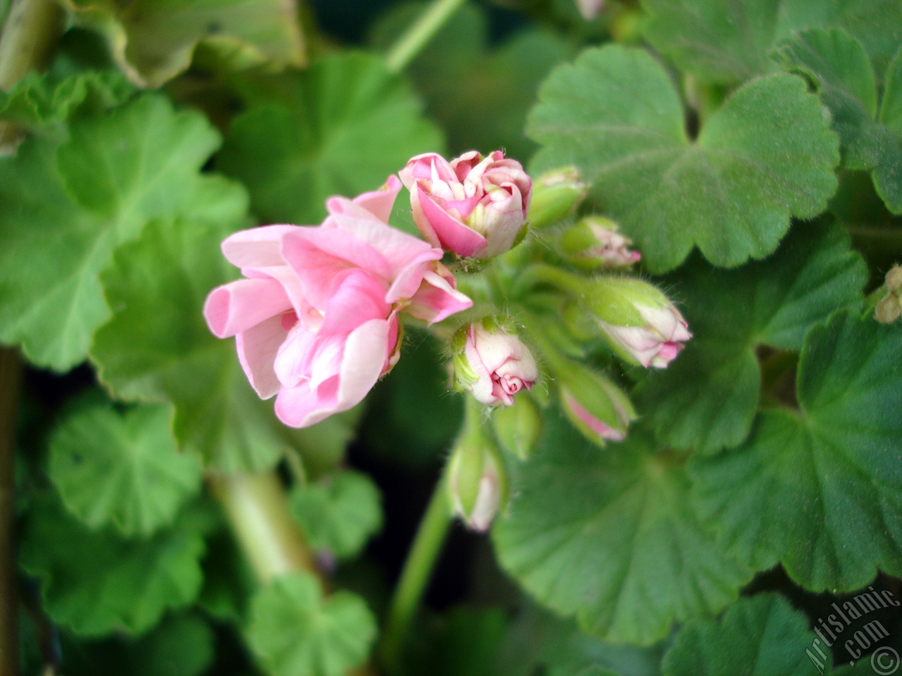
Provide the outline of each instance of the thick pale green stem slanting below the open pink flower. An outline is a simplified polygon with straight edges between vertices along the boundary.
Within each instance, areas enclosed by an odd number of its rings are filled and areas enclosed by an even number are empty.
[[[265,584],[290,571],[318,573],[274,471],[217,476],[210,485],[259,580]]]

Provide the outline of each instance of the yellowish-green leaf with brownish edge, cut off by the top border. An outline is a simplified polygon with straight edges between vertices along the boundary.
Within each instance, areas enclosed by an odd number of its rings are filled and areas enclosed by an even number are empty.
[[[78,25],[106,38],[139,87],[160,87],[188,69],[198,43],[232,52],[245,68],[304,63],[295,3],[281,0],[67,0]]]

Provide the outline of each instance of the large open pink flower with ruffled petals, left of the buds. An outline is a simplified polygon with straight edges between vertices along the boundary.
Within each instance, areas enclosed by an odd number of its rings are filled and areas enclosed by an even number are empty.
[[[204,314],[235,336],[244,373],[276,415],[306,427],[356,406],[398,360],[399,313],[428,322],[472,305],[442,251],[386,224],[400,181],[333,197],[318,227],[268,225],[223,242],[244,279],[215,288]]]

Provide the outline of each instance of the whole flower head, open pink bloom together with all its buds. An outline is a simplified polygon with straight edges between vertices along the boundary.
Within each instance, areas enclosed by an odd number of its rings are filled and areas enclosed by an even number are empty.
[[[389,224],[402,184],[422,239]],[[282,422],[306,427],[356,406],[391,370],[404,321],[455,322],[456,331],[440,331],[453,336],[454,384],[469,403],[446,477],[456,513],[483,531],[507,499],[504,452],[527,460],[541,429],[537,400],[548,406],[549,389],[594,443],[627,434],[630,399],[584,363],[583,343],[603,337],[624,361],[664,368],[691,337],[658,288],[626,276],[640,254],[617,224],[599,215],[574,223],[587,193],[572,167],[534,186],[502,151],[419,155],[380,190],[330,198],[318,227],[270,225],[226,239],[226,259],[244,279],[210,293],[207,323],[235,336],[251,386],[276,397]],[[541,236],[508,254],[524,241],[528,215]],[[902,314],[900,269],[887,288],[878,314],[891,321]],[[539,373],[528,343],[550,388],[530,391]]]

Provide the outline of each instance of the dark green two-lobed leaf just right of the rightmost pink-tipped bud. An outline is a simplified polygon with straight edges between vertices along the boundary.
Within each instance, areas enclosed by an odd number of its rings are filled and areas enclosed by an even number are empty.
[[[695,260],[667,279],[694,337],[636,393],[658,438],[698,452],[742,443],[758,410],[759,347],[801,350],[808,326],[860,300],[867,279],[836,223],[796,224],[774,255],[740,269]]]

